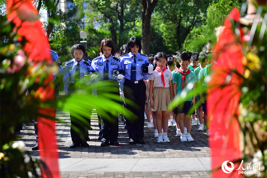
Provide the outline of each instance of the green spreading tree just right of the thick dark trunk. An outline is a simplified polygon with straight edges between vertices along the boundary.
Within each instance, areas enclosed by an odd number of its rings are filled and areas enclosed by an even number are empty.
[[[159,23],[162,21],[171,22],[172,25],[169,25],[175,35],[170,34],[168,38],[175,39],[179,49],[182,48],[183,41],[192,28],[204,21],[209,2],[195,0],[164,0],[159,2],[156,7],[156,17],[160,21]]]

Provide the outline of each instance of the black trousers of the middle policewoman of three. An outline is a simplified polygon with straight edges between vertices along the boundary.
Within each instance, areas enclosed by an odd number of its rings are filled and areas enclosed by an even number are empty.
[[[102,80],[100,81],[102,82]],[[105,86],[105,89],[108,90],[109,86],[111,84],[115,84],[117,87],[117,90],[112,92],[112,94],[120,95],[120,89],[119,89],[119,83],[116,80],[105,80],[106,83],[108,83]],[[109,84],[110,83],[110,84]],[[98,91],[97,91],[98,93]],[[118,102],[118,101],[115,101]],[[110,112],[107,112],[108,116],[104,117],[101,115],[101,119],[104,123],[104,126],[102,126],[102,138],[105,138],[107,141],[116,141],[118,139],[119,135],[119,118],[118,114],[116,116],[113,116]]]

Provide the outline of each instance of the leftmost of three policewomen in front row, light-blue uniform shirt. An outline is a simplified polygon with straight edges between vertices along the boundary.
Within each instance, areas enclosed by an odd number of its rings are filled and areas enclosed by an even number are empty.
[[[71,93],[75,92],[75,90],[84,89],[85,85],[89,85],[92,83],[92,80],[95,79],[95,76],[90,76],[88,78],[84,77],[84,73],[86,71],[93,71],[93,67],[91,66],[91,63],[88,61],[84,61],[82,59],[85,48],[81,44],[75,44],[72,46],[70,53],[74,59],[66,62],[65,69],[64,69],[64,75],[63,75],[63,83],[64,83],[64,91],[66,95],[70,95]],[[88,91],[92,92],[92,91]],[[74,115],[73,112],[75,112],[72,108],[70,109],[70,122],[71,122],[71,128],[70,128],[70,135],[72,139],[72,144],[70,145],[70,148],[76,148],[78,146],[82,147],[89,147],[86,141],[90,141],[89,135],[88,135],[88,127],[84,128],[84,123],[81,123]],[[91,111],[88,109],[88,111]],[[77,112],[76,112],[77,113]],[[83,116],[84,117],[84,116]],[[89,122],[89,118],[84,117],[86,121]],[[72,126],[76,126],[81,132],[82,137],[80,137]]]

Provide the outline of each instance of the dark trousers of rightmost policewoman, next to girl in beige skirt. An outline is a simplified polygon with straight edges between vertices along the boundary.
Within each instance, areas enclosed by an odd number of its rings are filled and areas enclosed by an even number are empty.
[[[143,139],[144,137],[146,89],[146,84],[143,80],[135,84],[130,80],[125,79],[124,96],[137,105],[126,105],[126,108],[136,115],[133,118],[126,118],[126,126],[128,129],[129,139]]]

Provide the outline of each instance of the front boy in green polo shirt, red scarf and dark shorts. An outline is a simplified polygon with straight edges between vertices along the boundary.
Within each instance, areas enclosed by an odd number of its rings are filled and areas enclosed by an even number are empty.
[[[194,84],[196,83],[196,77],[193,71],[190,71],[188,68],[190,63],[190,56],[187,53],[183,53],[180,55],[179,58],[179,64],[181,67],[177,72],[174,73],[174,96],[178,97],[181,95],[182,91],[188,86],[188,84]],[[192,87],[195,89],[195,86]],[[187,142],[187,141],[194,141],[192,138],[190,132],[191,132],[191,115],[195,114],[194,107],[195,105],[195,95],[193,97],[188,97],[185,99],[183,106],[179,106],[179,103],[177,107],[174,109],[175,114],[179,114],[179,127],[181,130],[182,135],[180,136],[181,142]],[[187,119],[187,133],[184,132],[184,116],[186,116]]]

